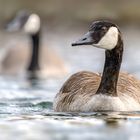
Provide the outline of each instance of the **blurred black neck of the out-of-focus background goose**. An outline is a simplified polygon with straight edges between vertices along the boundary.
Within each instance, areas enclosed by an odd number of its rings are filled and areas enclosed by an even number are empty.
[[[29,63],[28,71],[29,72],[36,72],[40,69],[39,67],[39,45],[40,45],[40,31],[36,34],[31,35],[32,39],[32,55],[31,61]]]

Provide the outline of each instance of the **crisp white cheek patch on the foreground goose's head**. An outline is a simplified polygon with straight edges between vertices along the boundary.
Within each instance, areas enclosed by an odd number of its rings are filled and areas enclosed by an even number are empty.
[[[101,38],[101,40],[94,45],[99,48],[111,50],[115,48],[117,42],[118,42],[118,29],[116,27],[110,27],[108,32]]]

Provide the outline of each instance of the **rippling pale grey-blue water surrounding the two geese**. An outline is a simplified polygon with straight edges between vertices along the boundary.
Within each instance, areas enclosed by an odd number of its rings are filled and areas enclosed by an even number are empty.
[[[48,40],[44,37],[44,43],[55,46],[67,61],[70,71],[65,77],[31,82],[0,76],[0,140],[139,140],[140,112],[58,113],[52,109],[54,96],[69,75],[80,70],[102,71],[103,50],[70,47],[85,31],[64,35],[57,30],[59,37],[54,32],[45,36]],[[122,70],[140,77],[140,32],[132,31],[124,29],[129,36]],[[28,42],[21,36],[15,40]]]

